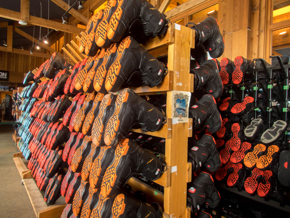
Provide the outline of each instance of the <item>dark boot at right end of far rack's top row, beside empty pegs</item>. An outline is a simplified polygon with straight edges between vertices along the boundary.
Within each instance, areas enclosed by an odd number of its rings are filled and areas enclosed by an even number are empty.
[[[53,53],[49,62],[46,64],[44,69],[44,76],[46,78],[52,78],[52,75],[55,71],[61,69],[72,69],[73,65],[66,62],[59,53]]]

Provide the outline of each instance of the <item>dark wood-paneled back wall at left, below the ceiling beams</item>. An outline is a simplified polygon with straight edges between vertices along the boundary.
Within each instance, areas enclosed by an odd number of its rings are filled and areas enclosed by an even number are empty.
[[[45,58],[0,51],[0,70],[10,72],[10,83],[22,83],[24,73],[39,67],[44,61]],[[21,86],[17,85],[17,87]]]

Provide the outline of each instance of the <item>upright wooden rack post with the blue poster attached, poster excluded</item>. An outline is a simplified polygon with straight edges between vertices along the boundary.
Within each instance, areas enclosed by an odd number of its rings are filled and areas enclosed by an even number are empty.
[[[174,43],[168,45],[168,70],[174,74],[173,90],[190,91],[191,30],[175,25]],[[166,117],[172,118],[173,91],[167,92]],[[171,186],[164,188],[164,212],[174,217],[186,215],[187,140],[189,123],[172,123],[172,135],[165,141],[165,161],[171,166]],[[178,203],[177,203],[178,202]]]

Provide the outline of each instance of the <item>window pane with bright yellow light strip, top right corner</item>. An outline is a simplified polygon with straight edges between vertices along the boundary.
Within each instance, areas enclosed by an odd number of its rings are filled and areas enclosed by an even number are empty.
[[[290,1],[273,0],[273,23],[290,19]]]

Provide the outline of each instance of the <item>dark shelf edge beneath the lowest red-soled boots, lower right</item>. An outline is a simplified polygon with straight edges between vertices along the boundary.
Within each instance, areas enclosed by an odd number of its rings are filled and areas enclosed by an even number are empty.
[[[289,205],[285,205],[284,207],[280,206],[280,203],[278,201],[274,201],[269,199],[268,201],[266,201],[264,198],[256,195],[250,195],[248,192],[246,192],[245,190],[242,191],[238,191],[237,187],[228,187],[226,184],[224,183],[217,183],[215,184],[216,187],[220,187],[224,190],[230,191],[232,193],[238,194],[240,196],[246,197],[248,199],[254,200],[254,201],[258,201],[260,203],[266,204],[268,206],[271,206],[273,208],[279,209],[279,210],[283,210],[285,212],[289,212],[290,213],[290,206]]]

